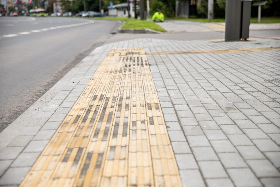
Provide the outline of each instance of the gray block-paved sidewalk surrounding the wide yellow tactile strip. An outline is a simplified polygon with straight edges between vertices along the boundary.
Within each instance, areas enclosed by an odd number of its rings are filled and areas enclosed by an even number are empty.
[[[28,111],[33,117],[21,130],[12,123],[0,134],[1,142],[10,135],[0,152],[0,185],[21,183],[108,52],[133,47],[147,52],[183,186],[279,186],[280,42],[264,39],[98,47],[44,108]]]

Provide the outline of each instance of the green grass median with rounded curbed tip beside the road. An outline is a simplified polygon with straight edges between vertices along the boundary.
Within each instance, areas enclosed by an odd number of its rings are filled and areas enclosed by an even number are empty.
[[[116,21],[125,21],[122,29],[152,29],[160,32],[165,32],[165,30],[154,23],[153,21],[144,21],[134,18],[117,18],[117,17],[94,17],[93,19],[107,19]]]

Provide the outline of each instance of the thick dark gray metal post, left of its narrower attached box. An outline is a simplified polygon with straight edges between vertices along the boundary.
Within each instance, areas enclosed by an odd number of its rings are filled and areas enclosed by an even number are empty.
[[[225,41],[239,41],[241,30],[242,0],[225,2]]]

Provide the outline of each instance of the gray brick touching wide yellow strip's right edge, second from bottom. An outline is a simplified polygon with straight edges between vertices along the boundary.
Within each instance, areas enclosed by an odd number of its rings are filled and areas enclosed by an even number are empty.
[[[195,158],[192,154],[175,154],[179,170],[198,169]]]

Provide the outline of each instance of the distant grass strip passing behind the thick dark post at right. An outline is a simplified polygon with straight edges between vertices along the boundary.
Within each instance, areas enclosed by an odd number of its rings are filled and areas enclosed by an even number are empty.
[[[200,22],[225,22],[225,19],[214,19],[209,21],[207,18],[170,18],[172,20],[184,20],[184,21],[200,21]],[[251,23],[258,23],[258,18],[251,18]],[[261,18],[261,23],[280,23],[280,17],[263,17]]]

